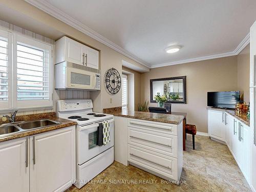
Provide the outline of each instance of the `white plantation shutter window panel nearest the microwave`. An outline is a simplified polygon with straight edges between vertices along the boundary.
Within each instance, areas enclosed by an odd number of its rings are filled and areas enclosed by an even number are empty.
[[[17,107],[47,106],[51,101],[51,46],[30,38],[16,38]]]

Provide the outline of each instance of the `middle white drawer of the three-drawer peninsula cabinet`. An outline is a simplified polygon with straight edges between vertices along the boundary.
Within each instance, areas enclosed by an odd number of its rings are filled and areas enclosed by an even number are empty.
[[[127,141],[129,144],[177,158],[177,136],[154,132],[151,129],[142,130],[130,126],[127,127],[127,131]]]

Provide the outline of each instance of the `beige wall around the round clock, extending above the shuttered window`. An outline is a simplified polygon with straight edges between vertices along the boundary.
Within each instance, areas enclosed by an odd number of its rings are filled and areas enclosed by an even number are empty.
[[[40,25],[44,25],[46,27],[49,27],[49,29],[53,29],[52,31],[59,31],[61,34],[65,34],[73,39],[79,40],[84,44],[87,44],[91,47],[94,47],[100,50],[100,69],[101,69],[101,75],[102,75],[101,91],[90,92],[90,97],[94,101],[94,110],[96,112],[102,112],[103,108],[113,108],[115,106],[121,106],[121,92],[119,91],[116,95],[110,95],[104,88],[103,78],[104,78],[105,72],[108,69],[114,67],[121,74],[122,60],[126,60],[127,62],[130,62],[135,66],[141,66],[139,63],[116,52],[115,50],[81,33],[80,31],[70,27],[69,25],[63,22],[60,22],[60,20],[48,15],[44,11],[41,11],[33,7],[32,5],[26,3],[25,1],[2,0],[0,3],[4,6],[9,7],[12,11],[14,10],[16,12],[19,12],[20,14],[24,14],[27,17],[33,19],[35,21],[35,24],[38,25],[38,31],[37,31],[37,28],[33,26],[33,29],[32,29],[33,32],[40,33],[40,30],[39,30]],[[23,26],[20,26],[20,27],[23,27]],[[31,29],[28,29],[28,30],[31,30]],[[49,37],[54,37],[54,36],[56,36],[56,34],[49,34]],[[57,40],[57,39],[54,39],[54,40]],[[113,101],[112,103],[110,103],[111,98]]]

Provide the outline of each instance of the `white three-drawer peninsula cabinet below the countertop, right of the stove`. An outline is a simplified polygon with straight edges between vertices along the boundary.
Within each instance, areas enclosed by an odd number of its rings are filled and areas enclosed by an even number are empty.
[[[127,161],[167,180],[180,180],[182,123],[127,119]]]

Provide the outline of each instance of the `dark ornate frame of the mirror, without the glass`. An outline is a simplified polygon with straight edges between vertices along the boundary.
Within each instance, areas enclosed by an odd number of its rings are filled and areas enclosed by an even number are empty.
[[[182,101],[166,101],[166,103],[187,103],[187,82],[186,82],[186,76],[181,77],[168,77],[168,78],[161,78],[161,79],[150,79],[150,102],[156,102],[154,100],[153,94],[153,82],[154,81],[163,81],[163,80],[174,80],[174,79],[182,79],[183,80],[183,90],[184,90],[184,98]]]

